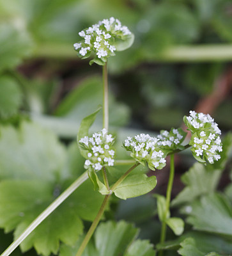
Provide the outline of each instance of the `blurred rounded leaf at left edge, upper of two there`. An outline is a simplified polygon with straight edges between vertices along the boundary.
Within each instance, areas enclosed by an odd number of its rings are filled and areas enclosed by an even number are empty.
[[[14,68],[31,52],[31,38],[24,30],[24,26],[14,24],[0,24],[0,72]]]

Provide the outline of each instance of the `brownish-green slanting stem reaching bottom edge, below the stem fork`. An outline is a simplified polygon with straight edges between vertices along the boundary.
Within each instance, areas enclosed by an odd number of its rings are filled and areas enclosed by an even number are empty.
[[[76,256],[81,256],[82,252],[84,252],[84,249],[86,248],[86,245],[88,244],[89,239],[91,239],[91,237],[93,236],[93,232],[97,228],[97,225],[98,225],[100,219],[102,218],[102,214],[105,211],[105,207],[107,206],[107,202],[109,201],[110,196],[111,195],[106,195],[105,196],[104,201],[102,203],[102,206],[100,207],[100,210],[98,211],[98,214],[97,214],[95,220],[93,221],[93,223],[92,223],[91,227],[89,228],[86,236],[84,237],[84,240],[82,241],[82,244],[81,244]]]

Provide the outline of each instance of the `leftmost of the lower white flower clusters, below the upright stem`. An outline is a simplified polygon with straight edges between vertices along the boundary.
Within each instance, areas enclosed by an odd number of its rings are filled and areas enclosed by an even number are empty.
[[[114,165],[115,151],[112,148],[114,138],[107,134],[106,129],[95,132],[92,137],[85,136],[79,140],[79,145],[87,150],[87,159],[84,168],[92,168],[95,171],[102,170],[103,166]]]

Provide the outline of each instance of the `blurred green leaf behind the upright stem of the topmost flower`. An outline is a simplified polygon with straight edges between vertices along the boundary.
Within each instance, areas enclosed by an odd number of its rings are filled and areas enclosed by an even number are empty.
[[[63,99],[58,108],[56,115],[81,122],[81,120],[97,109],[103,100],[102,77],[92,76],[83,79],[65,99]],[[125,104],[116,102],[114,96],[109,92],[109,122],[110,125],[121,126],[128,122],[130,109]],[[98,115],[94,127],[102,127],[102,115]]]

